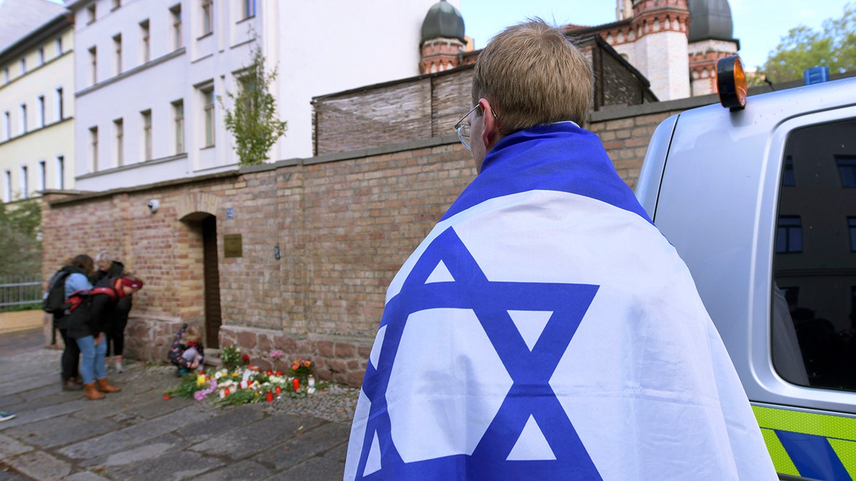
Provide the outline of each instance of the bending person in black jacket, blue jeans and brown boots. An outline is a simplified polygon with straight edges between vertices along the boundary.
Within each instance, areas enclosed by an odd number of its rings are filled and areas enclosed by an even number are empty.
[[[88,282],[88,280],[87,280]],[[80,376],[83,377],[83,387],[86,397],[91,400],[104,398],[104,393],[114,393],[121,390],[110,384],[104,367],[104,355],[107,353],[107,342],[104,332],[106,321],[116,303],[134,294],[143,287],[143,282],[134,276],[110,279],[107,286],[90,288],[79,291],[69,297],[72,306],[69,314],[62,318],[68,336],[77,341],[80,347]]]

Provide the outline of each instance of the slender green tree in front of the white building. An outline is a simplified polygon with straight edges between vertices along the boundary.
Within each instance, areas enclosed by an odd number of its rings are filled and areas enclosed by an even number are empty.
[[[252,50],[253,61],[239,78],[237,93],[226,92],[232,101],[232,109],[223,104],[223,122],[226,130],[235,137],[235,152],[241,165],[265,163],[270,147],[285,134],[286,122],[276,116],[276,99],[270,94],[270,82],[276,80],[276,68],[270,74],[265,71],[265,56],[256,44]]]

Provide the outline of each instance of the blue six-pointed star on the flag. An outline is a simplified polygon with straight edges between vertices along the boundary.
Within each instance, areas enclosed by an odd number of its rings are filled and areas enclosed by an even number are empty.
[[[455,282],[425,283],[437,264]],[[358,479],[601,479],[553,389],[556,370],[586,314],[597,286],[550,282],[490,282],[455,230],[446,229],[413,266],[401,292],[387,303],[386,326],[377,367],[369,363],[363,392],[372,402],[366,420]],[[386,390],[407,317],[434,308],[473,309],[513,380],[496,417],[472,455],[457,454],[405,463],[390,435]],[[532,351],[508,315],[509,310],[552,311]],[[507,460],[526,420],[535,419],[556,460]],[[375,433],[381,469],[363,477]]]

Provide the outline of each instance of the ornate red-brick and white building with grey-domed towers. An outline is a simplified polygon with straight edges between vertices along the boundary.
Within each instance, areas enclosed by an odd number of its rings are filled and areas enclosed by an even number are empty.
[[[616,0],[615,21],[565,26],[574,38],[597,35],[651,82],[659,100],[715,92],[716,61],[740,49],[728,0]],[[422,74],[475,62],[464,19],[445,0],[422,24]]]

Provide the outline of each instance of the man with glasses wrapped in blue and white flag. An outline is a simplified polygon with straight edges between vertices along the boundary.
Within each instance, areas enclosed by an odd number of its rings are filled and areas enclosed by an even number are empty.
[[[693,279],[543,21],[481,52],[479,175],[389,286],[346,479],[776,479]]]

